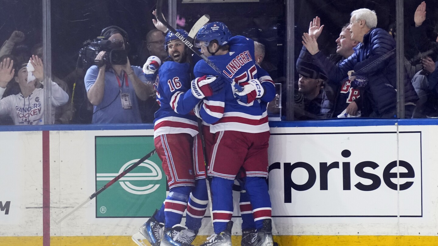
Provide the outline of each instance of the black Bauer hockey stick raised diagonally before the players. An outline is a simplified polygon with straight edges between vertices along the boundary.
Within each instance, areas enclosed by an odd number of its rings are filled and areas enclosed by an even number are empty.
[[[163,18],[163,14],[162,14],[162,0],[157,0],[157,19],[164,25],[166,26],[166,28],[168,28],[170,30],[170,32],[173,32],[178,39],[180,39],[189,49],[191,49],[191,51],[193,51],[193,53],[197,54],[198,56],[200,56],[202,58],[202,60],[205,60],[205,62],[212,67],[219,75],[221,75],[221,77],[223,77],[224,79],[226,79],[228,82],[230,82],[230,84],[236,88],[237,91],[242,91],[242,87],[240,87],[240,85],[236,84],[236,82],[234,80],[232,80],[230,77],[227,77],[225,74],[224,70],[221,70],[218,66],[215,65],[215,63],[213,63],[211,60],[209,60],[207,58],[207,56],[205,56],[204,54],[202,54],[198,49],[196,49],[193,46],[193,39],[192,40],[188,40],[186,38],[184,38],[183,35],[181,35],[179,32],[177,32],[175,30],[175,28],[173,28],[171,25],[169,25],[169,23],[167,23],[167,21]]]

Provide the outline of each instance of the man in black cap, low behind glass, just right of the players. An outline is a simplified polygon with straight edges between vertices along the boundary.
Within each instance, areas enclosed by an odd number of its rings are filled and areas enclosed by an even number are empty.
[[[322,70],[313,63],[297,60],[299,73],[298,91],[294,98],[295,119],[321,119],[322,86],[327,79]]]

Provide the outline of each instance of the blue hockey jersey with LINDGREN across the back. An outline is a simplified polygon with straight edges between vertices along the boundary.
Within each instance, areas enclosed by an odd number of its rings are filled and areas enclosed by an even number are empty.
[[[258,79],[265,94],[263,97],[245,104],[234,96],[234,87],[227,84],[221,91],[204,98],[199,114],[208,124],[212,133],[235,130],[247,133],[260,133],[269,130],[266,106],[275,97],[275,86],[268,73],[254,61],[254,41],[243,36],[230,39],[230,52],[225,55],[208,57],[217,67],[224,69],[226,77],[239,85]],[[204,60],[196,63],[195,77],[217,74]]]

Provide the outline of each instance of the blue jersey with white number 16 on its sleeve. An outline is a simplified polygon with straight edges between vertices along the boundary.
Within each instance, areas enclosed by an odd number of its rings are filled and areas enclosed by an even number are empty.
[[[189,114],[199,102],[190,89],[190,64],[166,61],[159,68],[155,81],[156,100],[154,137],[162,134],[198,134],[196,116]],[[187,92],[187,93],[186,93]]]

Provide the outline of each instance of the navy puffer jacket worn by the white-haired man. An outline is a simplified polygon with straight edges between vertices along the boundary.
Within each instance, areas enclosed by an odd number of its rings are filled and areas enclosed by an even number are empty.
[[[363,98],[362,116],[394,117],[396,112],[396,41],[381,28],[373,28],[364,35],[363,43],[355,47],[355,52],[339,66],[329,62],[322,52],[314,55],[318,65],[332,81],[343,81],[347,72],[367,77],[366,97]],[[306,51],[307,52],[307,51]],[[382,57],[384,56],[384,57]],[[405,79],[405,102],[418,100],[409,79]],[[366,105],[370,110],[366,110]],[[368,112],[367,112],[368,111]]]

